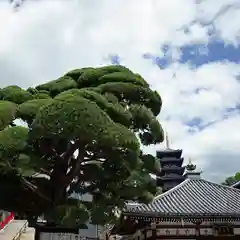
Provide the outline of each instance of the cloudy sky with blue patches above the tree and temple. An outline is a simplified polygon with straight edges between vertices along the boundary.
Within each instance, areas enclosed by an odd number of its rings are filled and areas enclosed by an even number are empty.
[[[240,171],[240,0],[0,0],[0,39],[0,87],[122,64],[160,93],[185,163],[214,182]]]

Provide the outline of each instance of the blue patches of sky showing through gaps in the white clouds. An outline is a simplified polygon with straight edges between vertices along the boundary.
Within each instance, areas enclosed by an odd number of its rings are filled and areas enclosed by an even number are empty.
[[[176,62],[178,64],[187,63],[196,69],[205,64],[214,62],[240,63],[240,46],[225,44],[225,42],[220,39],[215,39],[206,44],[188,44],[181,46],[179,48],[180,57],[177,60],[173,59],[173,57],[168,54],[168,52],[171,51],[169,45],[162,45],[161,50],[163,51],[163,56],[144,53],[142,57],[151,61],[153,65],[157,65],[160,69],[167,69],[171,64],[175,64]],[[111,64],[121,64],[121,57],[118,54],[109,55],[109,60]],[[196,88],[195,93],[198,94],[201,90],[201,88]],[[222,115],[222,119],[228,118],[229,114],[234,111],[240,113],[240,104],[236,103],[236,105],[226,108],[225,114]],[[192,132],[191,128],[197,128],[198,131],[202,131],[204,128],[210,127],[216,123],[216,121],[210,121],[208,123],[203,122],[202,118],[193,117],[184,124],[189,126],[189,132]]]

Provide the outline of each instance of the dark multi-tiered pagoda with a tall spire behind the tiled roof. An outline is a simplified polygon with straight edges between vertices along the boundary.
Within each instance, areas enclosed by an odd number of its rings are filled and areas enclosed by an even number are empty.
[[[171,149],[169,147],[168,133],[166,132],[166,149],[157,151],[157,158],[161,164],[161,172],[157,176],[157,185],[163,192],[170,190],[184,181],[183,173],[185,167],[182,166],[184,158],[181,149]]]

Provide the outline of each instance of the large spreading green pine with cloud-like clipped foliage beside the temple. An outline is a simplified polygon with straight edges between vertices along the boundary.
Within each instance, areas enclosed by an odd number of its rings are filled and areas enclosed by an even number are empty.
[[[141,146],[163,141],[161,106],[139,74],[115,65],[0,89],[0,209],[104,224],[128,200],[151,201],[160,166]]]

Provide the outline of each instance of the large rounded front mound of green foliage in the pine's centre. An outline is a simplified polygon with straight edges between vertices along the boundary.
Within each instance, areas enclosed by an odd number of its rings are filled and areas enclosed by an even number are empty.
[[[84,142],[97,141],[99,146],[139,149],[135,135],[111,118],[92,101],[65,96],[43,106],[33,121],[31,141],[43,138],[73,140],[84,136]]]

